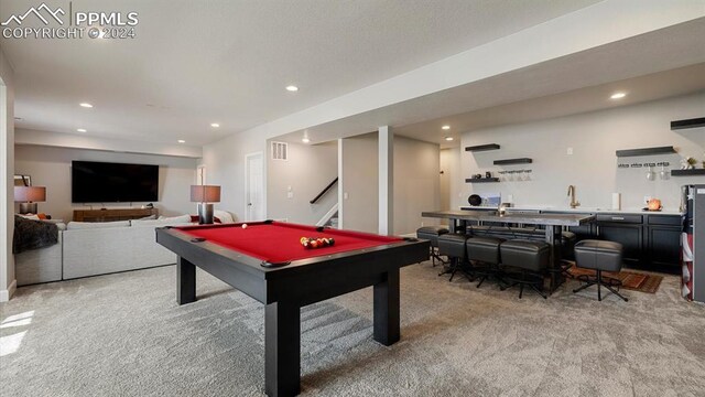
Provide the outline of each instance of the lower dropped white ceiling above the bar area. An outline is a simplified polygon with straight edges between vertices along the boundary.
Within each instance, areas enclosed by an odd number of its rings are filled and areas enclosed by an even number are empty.
[[[394,133],[457,146],[479,128],[639,104],[705,89],[705,19],[543,62],[471,84],[338,119],[278,139],[313,143],[389,125]],[[615,90],[629,95],[609,100]],[[705,104],[704,104],[705,109]],[[451,132],[443,131],[451,125]],[[444,137],[452,136],[453,142]]]

